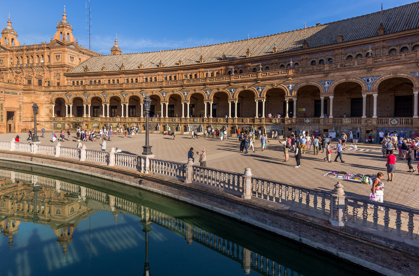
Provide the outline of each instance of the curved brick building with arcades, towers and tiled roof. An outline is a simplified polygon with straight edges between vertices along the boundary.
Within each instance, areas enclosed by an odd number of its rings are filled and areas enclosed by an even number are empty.
[[[186,132],[212,125],[230,133],[262,127],[285,135],[300,129],[334,129],[337,135],[352,129],[362,139],[380,129],[411,135],[419,126],[418,12],[419,3],[412,3],[383,14],[161,52],[122,54],[115,39],[110,55],[80,47],[65,13],[49,44],[21,49],[9,20],[0,45],[0,91],[7,93],[0,101],[3,114],[16,115],[12,128],[9,115],[3,118],[0,131],[33,127],[34,102],[41,106],[39,128],[144,129],[142,99],[149,95],[150,113],[159,115],[151,120],[153,129],[160,124],[160,130]],[[51,62],[31,63],[39,54]],[[285,118],[264,118],[267,113]]]

